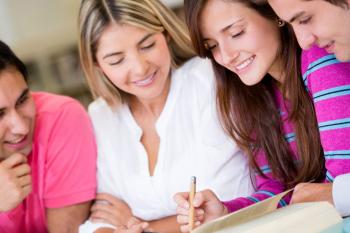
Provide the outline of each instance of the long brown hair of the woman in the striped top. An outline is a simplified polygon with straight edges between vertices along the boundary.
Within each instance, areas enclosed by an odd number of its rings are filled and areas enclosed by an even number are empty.
[[[268,4],[252,0],[231,1],[245,4],[268,20],[277,20]],[[206,0],[185,0],[186,23],[196,52],[199,56],[212,60],[216,74],[218,110],[224,129],[248,154],[250,166],[261,175],[263,173],[255,157],[263,150],[273,175],[281,179],[287,187],[323,179],[324,156],[315,110],[302,81],[301,50],[292,27],[280,27],[281,48],[278,58],[286,77],[281,89],[284,98],[288,93],[288,120],[295,126],[300,159],[297,164],[289,143],[284,138],[280,113],[274,100],[275,81],[272,77],[266,74],[262,82],[246,86],[235,73],[219,65],[210,51],[206,50],[199,28],[201,12],[206,3]]]

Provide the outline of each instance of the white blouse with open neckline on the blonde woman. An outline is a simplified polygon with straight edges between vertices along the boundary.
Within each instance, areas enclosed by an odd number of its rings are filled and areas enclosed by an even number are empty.
[[[209,60],[193,58],[173,70],[170,92],[156,123],[160,138],[153,176],[140,142],[142,130],[129,107],[111,109],[103,99],[89,106],[98,146],[98,192],[124,200],[145,221],[175,214],[173,196],[212,189],[221,200],[253,192],[245,156],[223,132],[215,105],[215,80]],[[87,221],[80,232],[105,224]]]

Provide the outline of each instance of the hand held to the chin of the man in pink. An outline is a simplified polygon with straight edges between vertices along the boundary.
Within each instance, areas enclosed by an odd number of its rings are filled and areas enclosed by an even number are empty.
[[[0,212],[17,207],[32,191],[30,166],[22,154],[13,154],[0,163]]]

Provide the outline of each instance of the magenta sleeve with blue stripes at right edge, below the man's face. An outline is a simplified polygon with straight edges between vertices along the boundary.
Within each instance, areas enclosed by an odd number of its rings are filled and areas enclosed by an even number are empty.
[[[314,47],[303,52],[302,64],[326,159],[325,182],[333,182],[350,172],[350,62]]]

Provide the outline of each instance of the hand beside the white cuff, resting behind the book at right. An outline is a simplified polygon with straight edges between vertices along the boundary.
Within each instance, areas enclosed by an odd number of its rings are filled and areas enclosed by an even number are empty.
[[[300,183],[295,186],[290,203],[328,201],[334,205],[332,188],[332,183]]]

